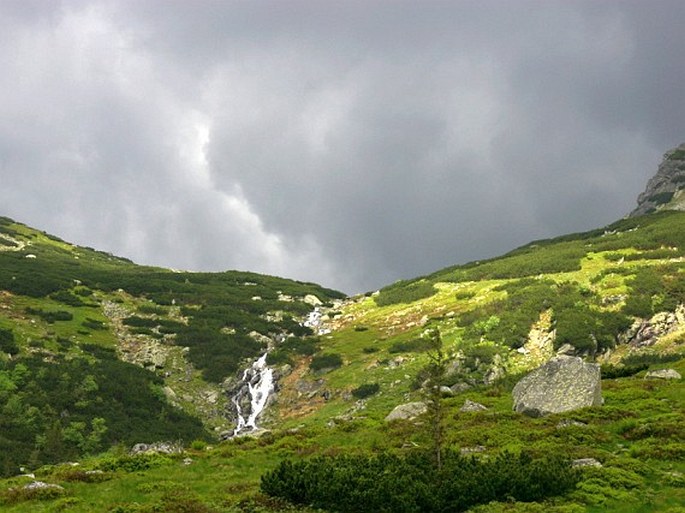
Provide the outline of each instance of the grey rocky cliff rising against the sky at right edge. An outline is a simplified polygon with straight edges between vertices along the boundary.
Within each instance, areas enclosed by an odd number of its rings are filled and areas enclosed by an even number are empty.
[[[629,217],[656,210],[685,210],[685,143],[664,155],[656,175],[637,198],[637,208]]]

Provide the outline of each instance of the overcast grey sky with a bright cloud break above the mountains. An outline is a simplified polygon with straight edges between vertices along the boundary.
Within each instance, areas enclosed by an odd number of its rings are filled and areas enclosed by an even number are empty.
[[[0,0],[0,215],[348,293],[625,214],[685,2]]]

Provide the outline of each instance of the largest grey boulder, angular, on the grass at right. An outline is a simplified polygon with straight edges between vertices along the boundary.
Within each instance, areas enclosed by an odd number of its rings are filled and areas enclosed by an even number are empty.
[[[577,356],[557,356],[519,381],[514,410],[531,417],[602,404],[599,365]]]

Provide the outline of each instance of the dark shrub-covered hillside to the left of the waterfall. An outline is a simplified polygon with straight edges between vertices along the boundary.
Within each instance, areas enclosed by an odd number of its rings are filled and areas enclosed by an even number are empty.
[[[0,218],[0,473],[112,444],[211,439],[219,386],[339,293],[142,267]],[[265,338],[266,337],[266,338]],[[204,422],[204,425],[203,425]],[[211,431],[211,432],[210,432]]]

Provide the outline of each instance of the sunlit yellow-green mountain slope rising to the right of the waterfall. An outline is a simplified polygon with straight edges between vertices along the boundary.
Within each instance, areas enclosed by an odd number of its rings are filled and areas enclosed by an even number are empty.
[[[331,333],[315,355],[338,355],[341,365],[284,383],[280,395],[290,403],[280,401],[282,418],[295,423],[298,410],[316,411],[322,422],[354,415],[350,394],[361,384],[379,385],[364,415],[383,418],[420,395],[431,329],[452,359],[445,385],[454,390],[520,374],[562,348],[607,364],[643,352],[677,356],[685,351],[685,319],[674,313],[685,303],[684,270],[685,213],[663,212],[349,300],[324,316],[321,328]],[[670,312],[668,336],[638,347],[638,328],[662,312]],[[307,387],[320,393],[303,407],[298,390]]]

